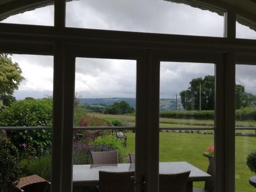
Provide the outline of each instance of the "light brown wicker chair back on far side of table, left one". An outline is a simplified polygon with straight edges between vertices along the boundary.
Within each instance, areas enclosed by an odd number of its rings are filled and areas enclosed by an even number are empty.
[[[91,152],[92,164],[118,164],[118,151]]]

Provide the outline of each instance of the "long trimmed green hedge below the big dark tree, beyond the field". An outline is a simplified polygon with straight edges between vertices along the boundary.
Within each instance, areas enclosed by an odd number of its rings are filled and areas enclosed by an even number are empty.
[[[209,111],[161,111],[160,117],[173,119],[214,119],[214,110]],[[236,110],[236,119],[256,120],[256,108],[248,107]]]

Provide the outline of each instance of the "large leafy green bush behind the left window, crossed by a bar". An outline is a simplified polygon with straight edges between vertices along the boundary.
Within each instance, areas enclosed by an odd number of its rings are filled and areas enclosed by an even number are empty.
[[[0,126],[51,126],[52,99],[33,99],[14,101],[9,108],[0,112]],[[46,130],[7,131],[12,143],[19,149],[20,144],[34,147],[40,155],[51,147],[52,136]]]

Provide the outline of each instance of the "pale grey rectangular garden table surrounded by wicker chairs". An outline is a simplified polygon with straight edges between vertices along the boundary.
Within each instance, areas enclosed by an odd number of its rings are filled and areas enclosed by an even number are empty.
[[[133,163],[104,164],[104,165],[73,165],[74,192],[82,191],[83,186],[99,185],[99,170],[106,172],[126,172],[134,170]],[[175,174],[190,170],[186,192],[193,191],[194,181],[210,180],[211,176],[203,170],[187,162],[160,162],[160,174]]]

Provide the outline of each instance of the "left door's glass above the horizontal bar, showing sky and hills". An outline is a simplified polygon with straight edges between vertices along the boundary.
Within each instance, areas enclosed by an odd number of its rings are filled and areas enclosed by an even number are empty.
[[[75,127],[135,126],[136,61],[76,58]]]

